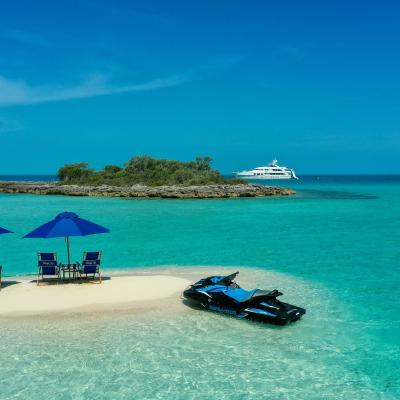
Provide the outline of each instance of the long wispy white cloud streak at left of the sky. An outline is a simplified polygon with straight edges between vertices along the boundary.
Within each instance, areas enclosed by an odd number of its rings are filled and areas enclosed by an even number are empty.
[[[7,79],[0,75],[0,107],[48,103],[128,92],[144,92],[178,86],[188,80],[190,80],[190,74],[182,74],[135,85],[115,85],[111,83],[107,75],[96,74],[72,86],[32,86],[24,80]]]

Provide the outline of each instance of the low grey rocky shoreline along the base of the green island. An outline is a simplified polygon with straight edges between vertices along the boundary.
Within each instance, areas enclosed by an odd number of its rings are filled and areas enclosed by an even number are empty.
[[[29,193],[63,196],[99,196],[127,198],[213,199],[237,197],[289,196],[288,188],[239,184],[203,186],[80,186],[56,182],[0,182],[0,193]]]

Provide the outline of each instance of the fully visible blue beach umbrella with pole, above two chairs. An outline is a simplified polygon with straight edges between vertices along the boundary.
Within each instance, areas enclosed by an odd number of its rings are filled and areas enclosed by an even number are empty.
[[[87,236],[97,233],[108,233],[109,229],[104,226],[97,225],[72,212],[63,212],[58,214],[51,221],[39,226],[32,232],[24,236],[24,238],[43,238],[50,239],[56,237],[64,237],[67,243],[68,265],[71,264],[70,257],[70,236]]]

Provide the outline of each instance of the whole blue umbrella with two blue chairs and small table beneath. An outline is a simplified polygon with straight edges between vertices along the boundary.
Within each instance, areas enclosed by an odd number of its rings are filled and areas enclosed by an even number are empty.
[[[78,275],[81,276],[80,267],[83,268],[83,273],[88,276],[96,274],[99,276],[101,282],[101,276],[99,272],[101,252],[85,252],[82,264],[71,263],[71,248],[70,248],[70,237],[71,236],[88,236],[95,235],[99,233],[108,233],[110,230],[104,226],[95,224],[94,222],[88,221],[86,219],[80,218],[77,214],[73,212],[63,212],[58,214],[54,219],[40,225],[38,228],[34,229],[32,232],[26,234],[24,238],[42,238],[51,239],[64,237],[65,243],[67,245],[68,263],[66,265],[59,264],[57,261],[56,253],[39,253],[38,257],[38,283],[39,277],[42,279],[45,275],[50,275],[61,278],[61,273],[63,274],[63,279],[65,279],[65,273],[68,273],[69,279],[75,279]]]

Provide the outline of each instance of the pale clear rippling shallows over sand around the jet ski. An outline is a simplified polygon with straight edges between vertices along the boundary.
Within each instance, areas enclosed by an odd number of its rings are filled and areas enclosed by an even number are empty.
[[[151,273],[195,280],[236,269]],[[348,327],[353,317],[340,299],[323,286],[260,269],[242,269],[238,280],[278,287],[307,314],[274,327],[192,309],[176,296],[146,312],[3,320],[0,398],[391,398],[360,373]]]

